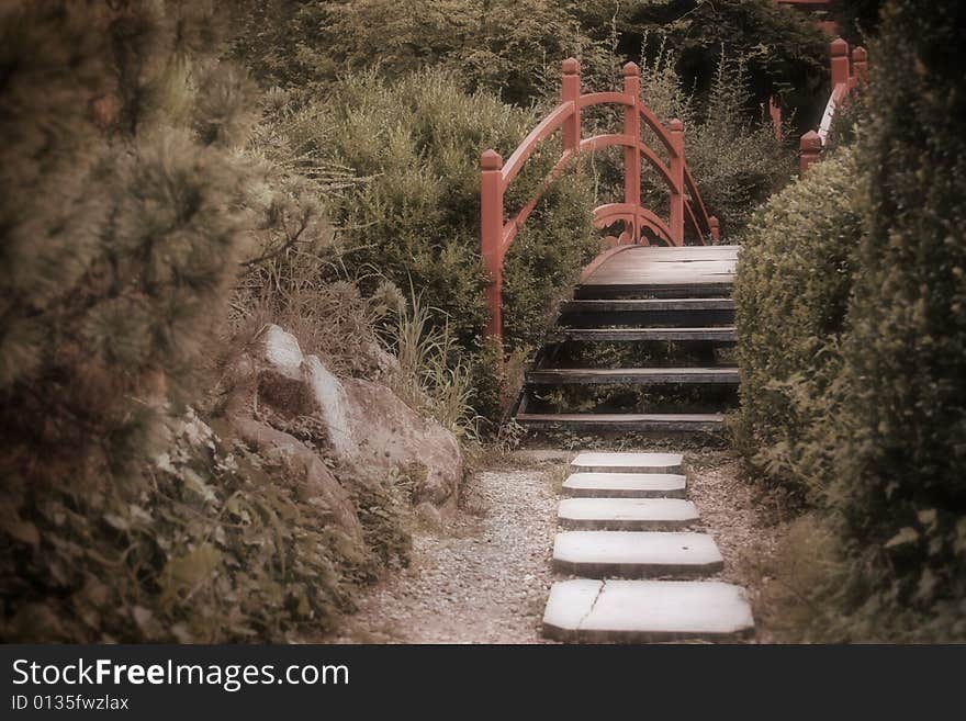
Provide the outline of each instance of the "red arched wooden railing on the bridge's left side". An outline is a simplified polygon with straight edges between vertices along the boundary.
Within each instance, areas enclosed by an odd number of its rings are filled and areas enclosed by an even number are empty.
[[[594,225],[608,228],[624,224],[620,235],[611,236],[615,244],[650,245],[644,230],[658,241],[682,246],[685,227],[700,244],[718,239],[718,221],[708,215],[697,185],[684,160],[684,126],[673,120],[665,127],[651,110],[641,102],[640,69],[633,63],[624,66],[624,92],[593,92],[581,94],[580,64],[575,58],[563,61],[561,102],[524,138],[506,162],[494,150],[485,150],[480,158],[481,183],[480,236],[483,262],[490,273],[486,301],[490,322],[486,333],[501,336],[503,330],[503,259],[524,223],[533,212],[547,185],[552,182],[582,153],[610,146],[624,147],[624,202],[608,203],[594,209]],[[624,106],[621,133],[600,134],[584,138],[581,135],[581,111],[592,105]],[[650,127],[667,151],[665,164],[641,139],[641,126]],[[563,134],[563,154],[553,166],[536,195],[510,218],[506,218],[503,195],[537,146],[557,131]],[[667,185],[670,213],[666,221],[641,205],[641,159],[645,160]]]

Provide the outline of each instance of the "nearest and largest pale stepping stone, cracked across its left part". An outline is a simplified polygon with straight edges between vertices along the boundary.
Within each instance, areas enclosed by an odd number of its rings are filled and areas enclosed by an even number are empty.
[[[753,630],[744,590],[717,581],[562,581],[543,611],[543,635],[558,641],[724,640]]]

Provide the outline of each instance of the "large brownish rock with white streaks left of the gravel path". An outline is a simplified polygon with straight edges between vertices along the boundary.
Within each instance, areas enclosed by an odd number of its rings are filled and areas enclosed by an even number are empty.
[[[258,399],[289,418],[321,421],[332,453],[369,473],[400,471],[413,480],[414,503],[454,507],[462,455],[456,437],[409,408],[389,387],[338,379],[279,326],[262,336]]]

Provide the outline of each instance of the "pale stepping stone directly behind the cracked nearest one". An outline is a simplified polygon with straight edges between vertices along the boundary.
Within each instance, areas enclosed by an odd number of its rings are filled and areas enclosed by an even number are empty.
[[[554,571],[592,578],[700,576],[723,565],[707,533],[563,531],[553,541]]]

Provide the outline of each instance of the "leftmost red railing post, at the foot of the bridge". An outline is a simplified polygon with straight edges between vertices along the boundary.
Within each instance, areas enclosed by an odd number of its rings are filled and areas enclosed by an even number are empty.
[[[483,266],[490,275],[486,335],[503,336],[503,158],[495,150],[480,156],[480,241]]]

